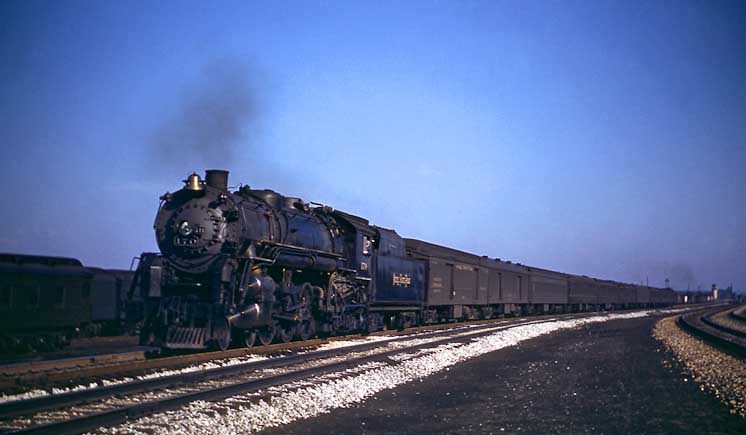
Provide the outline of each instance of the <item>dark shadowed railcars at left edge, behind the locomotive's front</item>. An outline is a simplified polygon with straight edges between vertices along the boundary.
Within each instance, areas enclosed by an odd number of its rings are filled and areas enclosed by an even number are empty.
[[[133,275],[73,258],[0,254],[0,354],[120,334]]]

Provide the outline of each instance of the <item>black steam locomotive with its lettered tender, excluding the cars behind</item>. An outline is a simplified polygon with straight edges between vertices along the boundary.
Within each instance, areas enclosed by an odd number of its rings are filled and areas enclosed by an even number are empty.
[[[421,301],[423,266],[394,231],[271,190],[230,192],[227,171],[164,194],[154,228],[161,252],[142,255],[133,285],[142,344],[224,349],[379,329]]]

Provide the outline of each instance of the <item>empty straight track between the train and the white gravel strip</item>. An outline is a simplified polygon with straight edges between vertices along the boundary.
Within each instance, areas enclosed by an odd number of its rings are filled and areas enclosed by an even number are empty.
[[[522,319],[510,324],[459,326],[450,330],[9,402],[0,404],[0,431],[17,434],[78,434],[178,408],[198,400],[215,401],[256,392],[362,364],[390,360],[402,353],[443,344],[464,343],[500,330],[557,320]]]

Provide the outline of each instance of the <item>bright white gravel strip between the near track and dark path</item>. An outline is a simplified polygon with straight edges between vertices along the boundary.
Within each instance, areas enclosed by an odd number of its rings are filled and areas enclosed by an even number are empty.
[[[390,361],[369,363],[217,402],[193,402],[184,408],[143,417],[102,434],[247,434],[311,418],[360,403],[376,393],[422,379],[460,362],[562,329],[608,320],[653,314],[639,311],[583,319],[519,325],[466,343],[452,343],[411,352]]]

